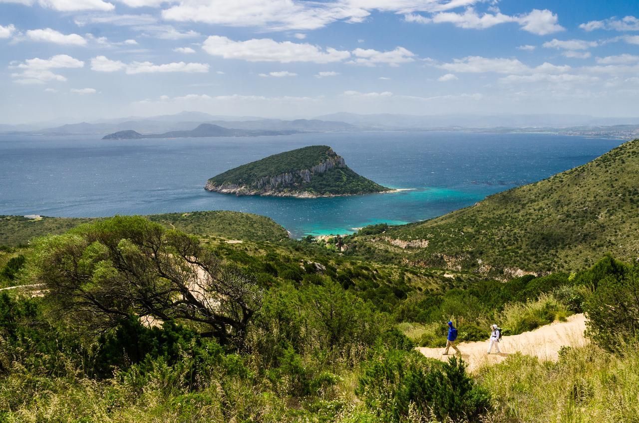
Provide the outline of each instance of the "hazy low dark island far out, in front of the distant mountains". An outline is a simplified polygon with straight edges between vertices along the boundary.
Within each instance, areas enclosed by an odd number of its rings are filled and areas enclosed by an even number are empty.
[[[140,134],[134,130],[125,130],[105,135],[102,139],[142,139],[142,138],[201,138],[201,137],[259,137],[260,135],[291,135],[295,130],[258,130],[224,128],[211,123],[202,123],[197,128],[188,131],[169,131],[164,134]]]

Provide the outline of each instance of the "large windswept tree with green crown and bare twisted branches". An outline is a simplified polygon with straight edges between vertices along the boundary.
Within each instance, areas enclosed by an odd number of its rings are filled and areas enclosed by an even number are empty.
[[[256,282],[195,236],[142,217],[114,217],[44,238],[28,265],[61,314],[104,331],[134,314],[189,321],[203,336],[241,342],[261,307]]]

